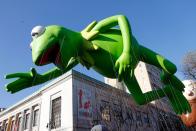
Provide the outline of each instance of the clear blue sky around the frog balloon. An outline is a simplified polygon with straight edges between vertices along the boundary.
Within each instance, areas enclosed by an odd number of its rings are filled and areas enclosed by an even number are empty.
[[[39,73],[53,65],[37,67],[31,59],[30,32],[35,25],[57,24],[80,31],[93,20],[124,14],[132,32],[144,46],[173,61],[180,72],[183,56],[196,50],[195,0],[1,0],[0,2],[0,107],[9,107],[40,86],[16,94],[4,90],[6,73],[27,72],[35,67]],[[99,80],[94,71],[81,66],[76,70]]]

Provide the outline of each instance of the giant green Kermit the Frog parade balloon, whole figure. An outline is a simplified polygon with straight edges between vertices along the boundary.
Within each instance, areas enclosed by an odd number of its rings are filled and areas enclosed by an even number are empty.
[[[117,25],[119,28],[114,29]],[[123,15],[94,21],[81,32],[57,25],[36,26],[31,35],[33,62],[38,66],[54,63],[56,67],[44,74],[38,74],[33,68],[28,73],[6,75],[7,79],[18,78],[6,85],[7,91],[11,93],[56,78],[80,63],[105,77],[124,81],[132,97],[140,105],[167,96],[176,113],[191,112],[190,105],[182,94],[184,85],[174,76],[176,66],[140,45]],[[142,92],[134,75],[139,61],[162,69],[163,89]]]

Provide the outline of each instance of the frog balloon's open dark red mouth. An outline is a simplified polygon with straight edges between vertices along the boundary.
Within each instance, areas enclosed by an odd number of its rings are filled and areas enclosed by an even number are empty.
[[[61,64],[61,53],[59,44],[54,44],[52,47],[47,49],[39,59],[39,65],[46,65],[54,63],[55,65]]]

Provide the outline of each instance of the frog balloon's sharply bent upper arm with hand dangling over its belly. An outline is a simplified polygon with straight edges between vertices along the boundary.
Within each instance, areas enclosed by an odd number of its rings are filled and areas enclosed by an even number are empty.
[[[99,21],[94,28],[92,28],[92,31],[99,31],[104,32],[114,26],[119,25],[119,28],[121,30],[122,39],[123,39],[123,49],[122,54],[118,58],[118,60],[115,63],[116,69],[118,69],[118,78],[119,80],[122,80],[122,77],[125,75],[125,73],[129,72],[130,65],[131,65],[131,51],[133,51],[132,48],[132,33],[131,33],[131,27],[127,20],[127,18],[123,15],[116,15],[112,16],[106,19],[103,19]]]

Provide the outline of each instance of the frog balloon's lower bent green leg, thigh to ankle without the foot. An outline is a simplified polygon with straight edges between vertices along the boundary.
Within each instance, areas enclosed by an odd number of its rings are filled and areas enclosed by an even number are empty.
[[[135,99],[136,103],[139,105],[146,104],[148,102],[151,102],[153,100],[156,100],[156,99],[159,99],[165,96],[165,93],[162,89],[143,93],[135,78],[135,75],[126,77],[124,79],[124,82],[129,92],[131,93],[132,97]]]

